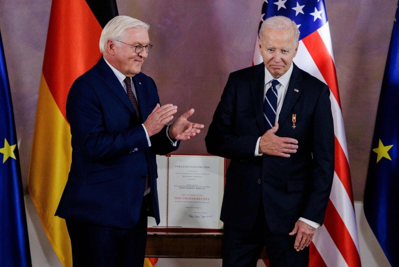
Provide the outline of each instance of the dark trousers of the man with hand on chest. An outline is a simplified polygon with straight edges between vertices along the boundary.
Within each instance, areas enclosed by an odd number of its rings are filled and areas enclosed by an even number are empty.
[[[251,229],[244,230],[224,224],[223,267],[256,267],[264,246],[270,267],[307,267],[309,247],[297,252],[294,249],[295,238],[288,233],[273,234],[267,226],[261,204]]]

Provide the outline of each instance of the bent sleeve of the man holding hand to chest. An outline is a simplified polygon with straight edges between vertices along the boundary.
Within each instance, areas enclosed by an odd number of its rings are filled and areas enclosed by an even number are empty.
[[[242,99],[238,96],[238,90],[247,88],[236,84],[235,80],[234,75],[230,74],[209,125],[205,144],[208,153],[213,155],[230,159],[250,158],[254,157],[259,135],[250,132],[254,127],[245,129],[240,117]]]

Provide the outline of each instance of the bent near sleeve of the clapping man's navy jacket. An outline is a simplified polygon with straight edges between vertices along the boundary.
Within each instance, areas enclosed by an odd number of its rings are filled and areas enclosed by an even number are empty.
[[[79,147],[92,161],[148,149],[147,137],[141,124],[129,124],[129,119],[126,119],[126,127],[110,130],[107,125],[110,118],[104,115],[108,107],[105,107],[103,101],[108,99],[100,99],[89,82],[78,79],[72,85],[66,104],[66,116],[71,126],[73,147]],[[113,124],[116,125],[115,122]]]

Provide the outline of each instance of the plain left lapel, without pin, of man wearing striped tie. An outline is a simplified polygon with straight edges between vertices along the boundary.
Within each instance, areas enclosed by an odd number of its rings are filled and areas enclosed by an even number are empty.
[[[250,77],[250,90],[252,94],[252,103],[254,103],[256,122],[258,123],[261,132],[265,132],[265,123],[263,120],[263,94],[265,83],[265,66],[263,63],[256,65],[253,68],[252,76]]]

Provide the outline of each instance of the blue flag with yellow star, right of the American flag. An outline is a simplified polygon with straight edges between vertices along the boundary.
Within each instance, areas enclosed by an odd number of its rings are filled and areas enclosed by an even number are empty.
[[[388,261],[399,266],[399,10],[385,67],[364,210]]]

